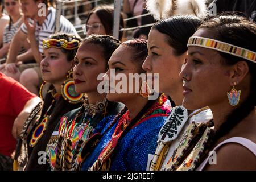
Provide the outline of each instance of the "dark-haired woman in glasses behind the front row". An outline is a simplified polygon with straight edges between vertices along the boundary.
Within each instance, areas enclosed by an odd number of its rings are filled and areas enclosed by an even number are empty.
[[[86,36],[92,34],[113,36],[114,7],[98,6],[88,15],[84,26]],[[124,27],[123,15],[120,14],[120,29]],[[123,32],[119,32],[119,40],[122,40]]]

